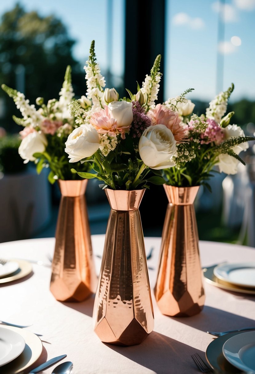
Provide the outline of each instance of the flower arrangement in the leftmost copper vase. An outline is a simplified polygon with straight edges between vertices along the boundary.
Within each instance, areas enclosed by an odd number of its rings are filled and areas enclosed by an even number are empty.
[[[11,97],[16,107],[21,111],[22,118],[13,116],[13,120],[24,129],[19,132],[21,144],[18,152],[24,164],[36,163],[37,172],[50,168],[48,180],[54,183],[57,179],[72,180],[79,178],[71,172],[67,154],[64,152],[65,141],[75,128],[74,117],[70,114],[70,104],[73,99],[71,84],[71,67],[65,72],[64,83],[59,92],[59,100],[51,99],[44,104],[44,99],[38,97],[35,105],[29,104],[23,93],[6,85],[2,89]],[[89,165],[79,165],[80,171],[88,171]]]

